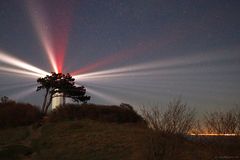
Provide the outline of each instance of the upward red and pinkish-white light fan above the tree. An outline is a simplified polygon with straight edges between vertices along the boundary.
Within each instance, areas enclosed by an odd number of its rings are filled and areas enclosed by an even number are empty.
[[[63,71],[73,18],[73,2],[73,0],[26,1],[34,28],[56,73]]]

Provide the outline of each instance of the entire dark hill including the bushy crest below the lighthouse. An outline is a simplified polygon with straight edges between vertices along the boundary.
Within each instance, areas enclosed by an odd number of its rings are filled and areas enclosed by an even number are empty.
[[[1,128],[0,159],[208,160],[239,154],[239,137],[191,140],[152,131],[143,121],[129,118],[134,116],[131,108],[76,107],[60,108],[41,123]]]

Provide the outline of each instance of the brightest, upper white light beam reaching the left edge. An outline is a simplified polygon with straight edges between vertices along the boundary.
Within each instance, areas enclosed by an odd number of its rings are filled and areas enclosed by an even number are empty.
[[[22,68],[22,69],[25,69],[25,70],[28,70],[28,71],[31,71],[31,72],[34,72],[34,73],[37,73],[39,75],[49,75],[50,73],[42,70],[42,69],[39,69],[33,65],[30,65],[20,59],[17,59],[13,56],[9,56],[3,52],[0,51],[0,61],[3,62],[3,63],[6,63],[8,65],[12,65],[12,66],[16,66],[18,68]],[[30,73],[25,73],[25,74],[30,74]]]

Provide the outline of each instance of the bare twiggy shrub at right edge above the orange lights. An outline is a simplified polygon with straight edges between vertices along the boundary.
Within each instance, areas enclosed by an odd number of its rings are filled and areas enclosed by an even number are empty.
[[[215,111],[205,114],[205,127],[208,133],[237,134],[239,133],[239,109],[234,108],[225,112]]]

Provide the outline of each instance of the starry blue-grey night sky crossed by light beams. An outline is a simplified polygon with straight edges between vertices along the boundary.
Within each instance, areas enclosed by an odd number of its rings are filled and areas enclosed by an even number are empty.
[[[59,71],[80,75],[76,83],[91,103],[154,106],[181,97],[199,111],[226,109],[240,104],[239,6],[238,0],[5,0],[0,51],[50,72],[51,50]],[[41,105],[36,79],[0,70],[0,96]]]

